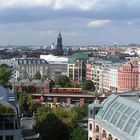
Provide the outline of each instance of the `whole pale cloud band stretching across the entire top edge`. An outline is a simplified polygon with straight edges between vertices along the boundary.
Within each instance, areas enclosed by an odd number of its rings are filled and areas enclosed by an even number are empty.
[[[0,0],[0,9],[10,7],[48,7],[54,10],[80,9],[97,10],[114,7],[140,8],[140,0]]]

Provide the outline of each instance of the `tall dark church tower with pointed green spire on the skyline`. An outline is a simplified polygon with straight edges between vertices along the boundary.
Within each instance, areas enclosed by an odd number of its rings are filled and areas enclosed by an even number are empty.
[[[57,36],[56,55],[63,55],[62,36],[61,36],[60,32],[59,32],[59,34]]]

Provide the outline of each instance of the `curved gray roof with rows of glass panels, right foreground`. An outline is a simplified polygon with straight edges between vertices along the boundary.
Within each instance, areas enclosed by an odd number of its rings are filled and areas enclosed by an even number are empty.
[[[140,103],[111,95],[101,104],[95,120],[121,140],[140,138]]]

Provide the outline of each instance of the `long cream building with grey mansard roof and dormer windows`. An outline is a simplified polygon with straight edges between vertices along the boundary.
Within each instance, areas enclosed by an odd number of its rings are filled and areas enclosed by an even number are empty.
[[[48,77],[48,62],[38,58],[17,59],[16,79],[33,78],[36,72],[40,72],[41,77]]]

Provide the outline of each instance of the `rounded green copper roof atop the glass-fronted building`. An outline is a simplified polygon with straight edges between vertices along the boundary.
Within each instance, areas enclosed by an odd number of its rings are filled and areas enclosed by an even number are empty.
[[[85,53],[74,53],[68,58],[68,63],[75,63],[76,60],[88,60],[89,57]]]

